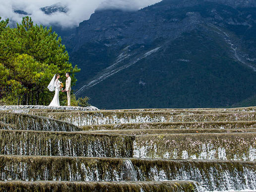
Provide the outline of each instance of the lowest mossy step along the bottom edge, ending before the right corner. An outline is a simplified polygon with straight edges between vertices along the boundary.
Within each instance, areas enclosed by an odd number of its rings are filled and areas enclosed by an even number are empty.
[[[0,182],[6,192],[203,192],[194,181],[162,182]]]

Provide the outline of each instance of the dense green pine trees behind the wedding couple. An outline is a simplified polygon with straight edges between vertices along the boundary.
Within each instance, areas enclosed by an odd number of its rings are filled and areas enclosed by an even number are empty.
[[[75,73],[80,71],[69,63],[62,39],[52,28],[34,25],[24,17],[17,28],[0,21],[0,99],[5,104],[48,105],[54,93],[48,83],[55,73],[64,77],[71,72],[73,86]]]

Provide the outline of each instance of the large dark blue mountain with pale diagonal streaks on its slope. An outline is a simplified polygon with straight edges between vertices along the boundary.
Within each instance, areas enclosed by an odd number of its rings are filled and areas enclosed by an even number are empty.
[[[256,95],[255,32],[255,0],[163,0],[96,10],[63,42],[101,109],[229,107]]]

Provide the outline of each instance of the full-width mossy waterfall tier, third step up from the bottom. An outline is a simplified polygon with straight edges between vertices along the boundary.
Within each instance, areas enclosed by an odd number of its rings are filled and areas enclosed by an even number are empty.
[[[124,135],[0,130],[0,154],[256,160],[256,132]]]

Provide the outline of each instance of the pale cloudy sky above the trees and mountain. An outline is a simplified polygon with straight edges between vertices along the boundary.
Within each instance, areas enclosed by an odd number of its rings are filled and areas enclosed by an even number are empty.
[[[120,8],[138,10],[145,6],[160,2],[161,0],[0,0],[1,19],[9,18],[18,23],[21,22],[22,14],[14,10],[23,10],[29,15],[34,23],[45,26],[57,24],[64,28],[75,27],[84,20],[88,20],[95,9]],[[46,15],[40,10],[41,7],[61,3],[68,8],[67,13],[56,12]]]

